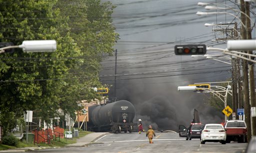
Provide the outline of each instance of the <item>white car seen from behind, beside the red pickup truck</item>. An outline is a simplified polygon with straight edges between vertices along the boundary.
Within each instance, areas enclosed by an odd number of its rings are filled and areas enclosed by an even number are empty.
[[[201,133],[201,144],[220,142],[226,144],[226,131],[221,124],[206,124]]]

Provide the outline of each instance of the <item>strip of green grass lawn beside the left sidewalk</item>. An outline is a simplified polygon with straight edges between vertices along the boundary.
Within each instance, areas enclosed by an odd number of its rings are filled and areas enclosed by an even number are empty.
[[[39,145],[37,145],[37,144],[33,145],[33,144],[25,144],[25,143],[19,142],[16,147],[0,144],[0,151],[8,150],[8,149],[15,149],[15,148],[38,147],[38,146],[40,146],[40,147],[64,147],[65,145],[76,143],[76,139],[81,138],[83,136],[86,136],[87,134],[90,134],[90,133],[92,133],[92,132],[79,131],[78,137],[73,137],[72,139],[65,139],[65,138],[64,139],[59,139],[59,140],[57,139],[56,141],[51,140],[50,144],[41,143]]]

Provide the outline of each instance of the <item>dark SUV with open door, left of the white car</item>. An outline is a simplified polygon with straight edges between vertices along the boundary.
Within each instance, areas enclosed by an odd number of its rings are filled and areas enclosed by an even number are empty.
[[[179,125],[179,137],[186,137],[186,140],[191,140],[192,138],[200,139],[203,127],[204,125],[201,123],[191,123],[188,128],[183,125]]]

